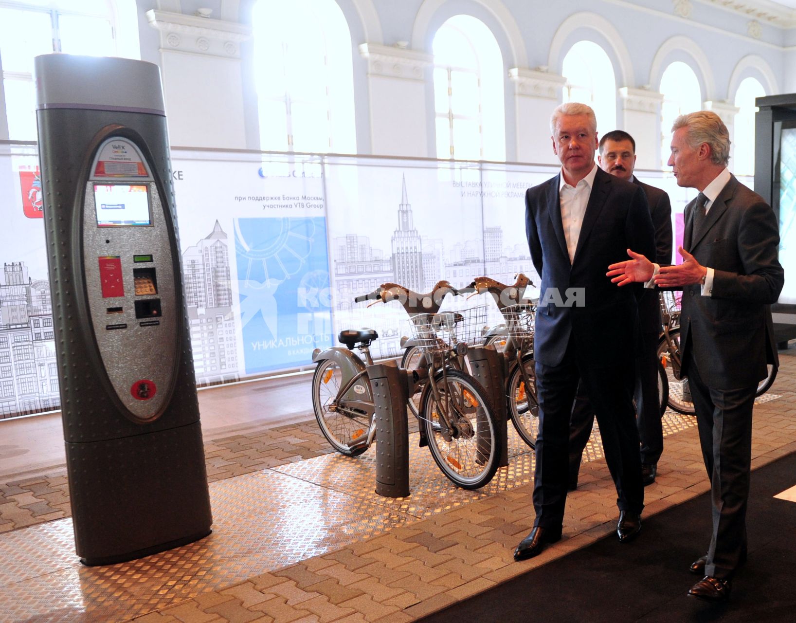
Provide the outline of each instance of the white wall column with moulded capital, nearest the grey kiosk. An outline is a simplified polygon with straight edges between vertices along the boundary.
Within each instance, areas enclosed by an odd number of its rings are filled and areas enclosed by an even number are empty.
[[[146,19],[160,33],[170,143],[245,149],[240,43],[251,28],[154,9]]]

